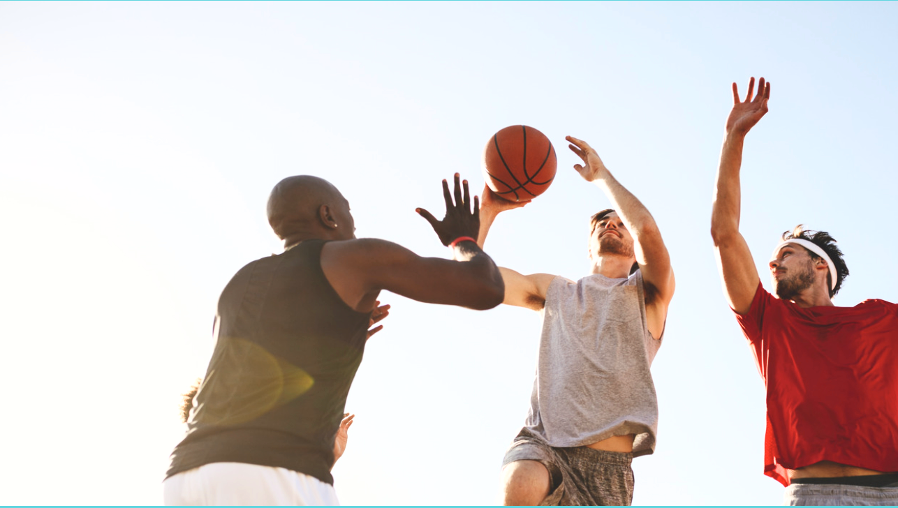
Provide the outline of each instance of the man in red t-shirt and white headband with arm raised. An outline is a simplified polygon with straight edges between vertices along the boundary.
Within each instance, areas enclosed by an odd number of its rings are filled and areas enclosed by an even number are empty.
[[[786,504],[898,504],[898,305],[836,307],[849,270],[826,232],[798,226],[770,258],[764,291],[739,232],[745,135],[767,112],[770,83],[745,101],[733,83],[711,236],[724,293],[767,390],[764,473]]]

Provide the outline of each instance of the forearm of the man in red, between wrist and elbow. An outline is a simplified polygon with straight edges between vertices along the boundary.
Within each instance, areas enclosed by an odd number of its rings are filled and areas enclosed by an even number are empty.
[[[742,167],[744,134],[727,133],[720,150],[720,167],[711,211],[711,237],[715,245],[739,232],[742,189],[739,171]]]

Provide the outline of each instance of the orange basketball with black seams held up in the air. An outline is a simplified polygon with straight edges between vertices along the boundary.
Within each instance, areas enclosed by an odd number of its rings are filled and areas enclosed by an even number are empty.
[[[498,197],[508,201],[529,201],[541,195],[557,169],[555,148],[533,127],[505,127],[483,149],[483,178]]]

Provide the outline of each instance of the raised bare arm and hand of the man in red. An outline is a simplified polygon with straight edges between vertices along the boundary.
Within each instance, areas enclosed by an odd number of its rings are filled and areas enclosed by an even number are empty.
[[[752,97],[754,78],[748,82],[745,101],[739,101],[739,91],[733,83],[733,109],[726,118],[726,136],[720,151],[717,187],[711,212],[711,238],[718,256],[720,277],[730,307],[744,314],[752,307],[754,293],[761,279],[754,267],[752,252],[739,232],[741,189],[739,170],[745,135],[767,113],[770,83],[758,82],[758,94]]]

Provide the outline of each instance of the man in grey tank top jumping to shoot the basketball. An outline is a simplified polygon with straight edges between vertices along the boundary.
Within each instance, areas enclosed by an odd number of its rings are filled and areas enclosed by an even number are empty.
[[[573,282],[499,268],[503,302],[542,314],[530,413],[503,461],[506,505],[630,504],[630,460],[655,450],[658,406],[649,367],[661,346],[674,271],[646,207],[592,147],[567,139],[585,162],[574,169],[614,209],[590,222],[589,276]],[[498,213],[525,205],[489,188],[482,202],[481,248]]]

